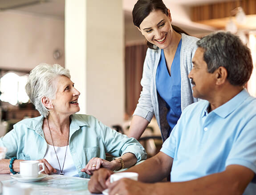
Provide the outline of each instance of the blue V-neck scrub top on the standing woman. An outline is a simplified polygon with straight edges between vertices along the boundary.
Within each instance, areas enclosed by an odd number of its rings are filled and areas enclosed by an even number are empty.
[[[160,97],[166,102],[168,109],[167,121],[171,128],[168,135],[170,135],[171,130],[177,124],[181,115],[180,49],[181,40],[171,65],[171,75],[168,72],[163,50],[161,50],[161,57],[156,72],[156,89]]]

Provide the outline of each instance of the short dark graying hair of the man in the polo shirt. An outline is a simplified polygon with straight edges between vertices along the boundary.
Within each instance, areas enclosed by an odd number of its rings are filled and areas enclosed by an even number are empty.
[[[253,69],[251,51],[238,36],[219,31],[197,41],[197,46],[204,50],[209,73],[223,66],[230,84],[243,86],[249,80]]]

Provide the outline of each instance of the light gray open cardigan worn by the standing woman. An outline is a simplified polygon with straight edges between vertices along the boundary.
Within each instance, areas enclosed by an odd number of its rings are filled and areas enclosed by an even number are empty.
[[[187,77],[192,69],[192,57],[197,49],[196,41],[198,39],[182,34],[182,43],[180,51],[180,74],[181,74],[181,110],[197,101],[193,98],[190,79]],[[161,129],[163,141],[167,139],[170,126],[168,125],[166,115],[167,108],[165,101],[158,95],[156,90],[156,70],[160,60],[161,50],[148,49],[143,65],[141,79],[142,91],[138,100],[137,107],[133,115],[138,115],[151,121],[155,115],[158,126]]]

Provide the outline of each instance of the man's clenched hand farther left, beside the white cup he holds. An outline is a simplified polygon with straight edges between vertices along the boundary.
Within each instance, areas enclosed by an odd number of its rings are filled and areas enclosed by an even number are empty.
[[[98,171],[93,173],[93,176],[89,180],[88,190],[91,193],[101,193],[109,185],[109,177],[114,172],[106,168],[100,168]]]

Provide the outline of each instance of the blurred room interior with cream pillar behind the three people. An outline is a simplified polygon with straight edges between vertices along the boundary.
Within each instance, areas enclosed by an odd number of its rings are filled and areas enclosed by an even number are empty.
[[[41,62],[70,70],[81,92],[80,113],[126,133],[141,91],[147,49],[132,22],[136,2],[0,0],[0,136],[17,121],[39,116],[24,85],[29,71]],[[163,2],[171,10],[172,24],[190,35],[200,38],[217,30],[239,35],[255,63],[256,0]],[[255,84],[254,70],[246,86],[253,96]],[[148,135],[161,141],[154,119],[144,136]],[[154,154],[155,146],[148,148]]]

